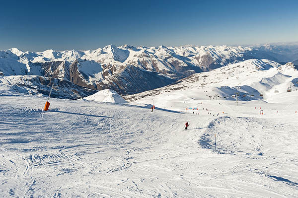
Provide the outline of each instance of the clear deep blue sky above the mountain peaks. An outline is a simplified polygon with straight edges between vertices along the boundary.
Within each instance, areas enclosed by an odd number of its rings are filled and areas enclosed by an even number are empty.
[[[298,0],[1,1],[0,50],[298,41]]]

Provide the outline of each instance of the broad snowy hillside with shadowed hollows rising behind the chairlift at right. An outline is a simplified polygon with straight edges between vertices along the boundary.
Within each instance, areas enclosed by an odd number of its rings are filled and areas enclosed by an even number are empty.
[[[267,100],[287,93],[289,87],[296,91],[297,77],[298,70],[293,64],[281,66],[268,60],[252,59],[209,72],[193,74],[172,85],[125,96],[125,99],[149,104],[154,97],[154,101],[162,103],[162,106],[167,108],[172,106],[166,105],[171,98],[182,101],[185,99],[236,100],[232,96],[238,93],[239,100]]]

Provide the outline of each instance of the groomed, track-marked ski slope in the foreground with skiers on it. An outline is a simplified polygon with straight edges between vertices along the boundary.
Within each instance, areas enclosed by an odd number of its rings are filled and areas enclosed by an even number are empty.
[[[0,96],[0,197],[298,197],[296,101],[45,101]]]

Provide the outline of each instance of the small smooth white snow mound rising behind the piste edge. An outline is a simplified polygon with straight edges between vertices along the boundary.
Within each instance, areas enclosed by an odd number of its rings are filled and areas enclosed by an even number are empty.
[[[83,100],[95,102],[127,103],[116,91],[104,89],[97,93],[83,98]]]

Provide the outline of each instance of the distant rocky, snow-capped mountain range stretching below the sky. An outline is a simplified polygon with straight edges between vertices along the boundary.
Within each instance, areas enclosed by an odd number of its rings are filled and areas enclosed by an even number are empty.
[[[125,96],[250,59],[296,64],[298,45],[108,45],[96,50],[44,52],[11,48],[0,51],[0,86],[6,90],[47,95],[54,82],[53,97],[78,99],[103,89]]]

